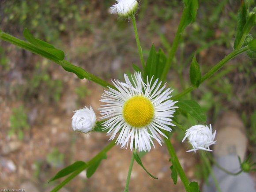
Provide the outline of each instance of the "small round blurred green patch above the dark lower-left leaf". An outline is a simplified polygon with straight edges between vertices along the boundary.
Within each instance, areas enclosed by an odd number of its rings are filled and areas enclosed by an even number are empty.
[[[53,148],[52,151],[47,154],[46,162],[53,167],[61,167],[64,165],[64,154],[60,153],[57,148]]]

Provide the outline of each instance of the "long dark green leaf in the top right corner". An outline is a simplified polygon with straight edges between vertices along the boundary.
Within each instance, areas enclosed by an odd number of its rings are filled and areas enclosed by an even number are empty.
[[[238,48],[238,45],[241,41],[241,38],[243,36],[243,28],[245,26],[246,23],[246,8],[245,8],[245,4],[242,3],[241,4],[241,8],[238,12],[238,16],[237,16],[237,35],[234,41],[234,49],[236,50]]]

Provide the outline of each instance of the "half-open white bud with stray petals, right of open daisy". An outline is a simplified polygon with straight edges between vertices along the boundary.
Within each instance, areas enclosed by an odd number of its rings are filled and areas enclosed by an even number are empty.
[[[192,145],[193,149],[187,152],[194,151],[196,153],[197,150],[212,151],[209,147],[216,143],[214,141],[215,135],[216,130],[212,133],[211,124],[210,128],[207,125],[198,124],[186,130],[182,142],[188,138],[189,143]]]

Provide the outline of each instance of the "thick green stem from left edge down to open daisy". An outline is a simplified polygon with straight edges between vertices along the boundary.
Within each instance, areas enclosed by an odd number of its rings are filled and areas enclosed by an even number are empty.
[[[26,49],[32,53],[35,53],[42,57],[45,57],[46,59],[49,59],[49,60],[53,61],[54,63],[59,64],[61,66],[63,65],[63,63],[66,63],[66,64],[68,63],[68,61],[65,61],[65,60],[57,60],[53,54],[48,53],[48,52],[28,43],[26,41],[22,41],[18,38],[15,38],[12,35],[6,34],[6,33],[2,32],[1,30],[0,30],[0,39],[2,39],[3,41],[7,41],[13,45],[16,45],[22,49]],[[68,64],[70,64],[70,63],[68,63]],[[85,74],[86,75],[84,75],[83,77],[88,79],[89,81],[98,83],[102,87],[106,87],[106,88],[111,87],[113,89],[116,89],[113,85],[105,82],[103,79],[100,79],[100,78],[96,77],[95,75],[90,74],[89,72],[85,71]]]

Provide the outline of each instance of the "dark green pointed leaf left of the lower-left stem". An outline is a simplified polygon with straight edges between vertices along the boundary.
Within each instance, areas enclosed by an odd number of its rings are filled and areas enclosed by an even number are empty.
[[[76,171],[77,169],[81,168],[82,166],[86,166],[85,162],[77,161],[74,162],[72,165],[65,167],[64,169],[60,170],[53,178],[50,179],[49,182],[54,181],[56,179],[60,179],[61,177],[65,177],[68,174]]]

